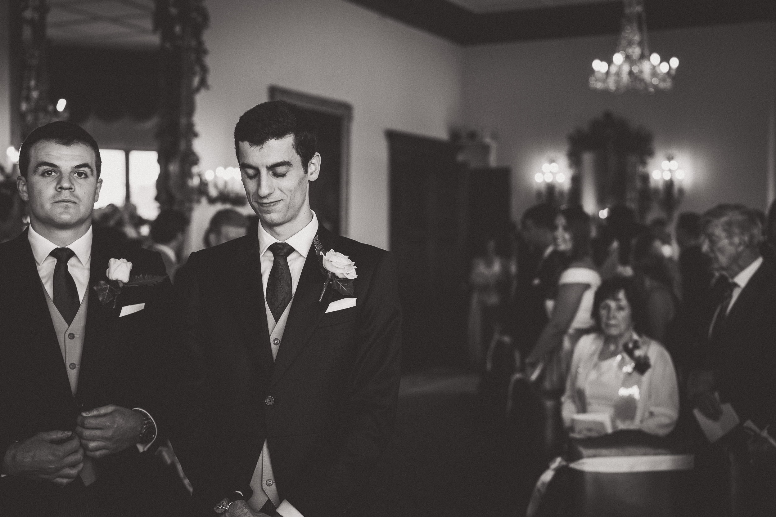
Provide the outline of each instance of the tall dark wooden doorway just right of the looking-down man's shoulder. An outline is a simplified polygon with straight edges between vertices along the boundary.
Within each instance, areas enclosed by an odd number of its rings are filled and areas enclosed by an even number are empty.
[[[397,257],[404,369],[462,366],[466,169],[455,144],[389,131],[390,249]]]

